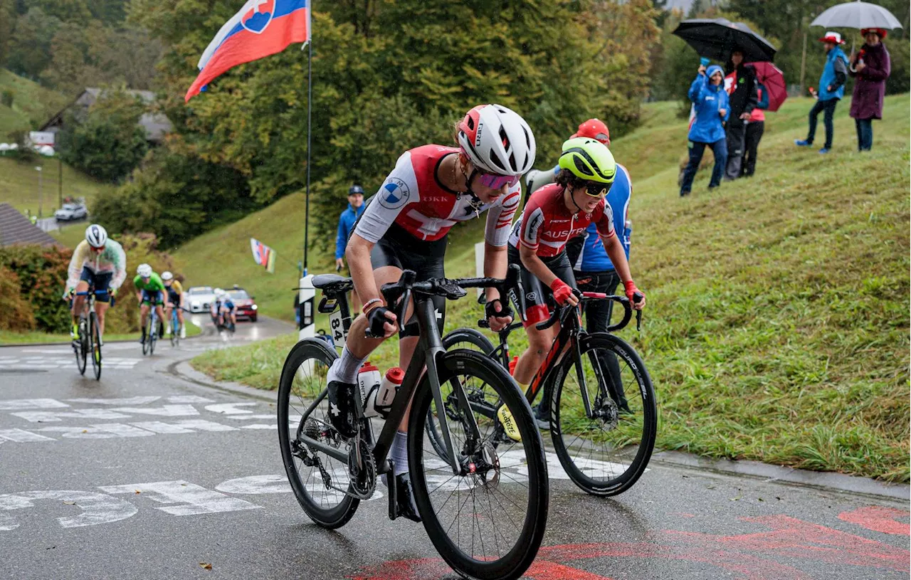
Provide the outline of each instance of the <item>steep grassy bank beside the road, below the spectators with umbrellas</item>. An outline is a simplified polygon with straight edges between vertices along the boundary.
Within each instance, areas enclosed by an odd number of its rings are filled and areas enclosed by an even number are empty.
[[[650,300],[642,333],[623,336],[659,392],[661,448],[909,483],[911,96],[886,98],[864,154],[846,102],[833,153],[795,148],[811,104],[768,116],[755,178],[710,193],[703,170],[690,198],[677,187],[685,122],[669,105],[617,139],[635,183],[632,270]],[[478,233],[462,233],[454,276],[474,269],[466,241]],[[449,328],[480,313],[472,300],[448,308]],[[274,388],[292,341],[195,364]],[[387,344],[374,360],[394,356]]]

